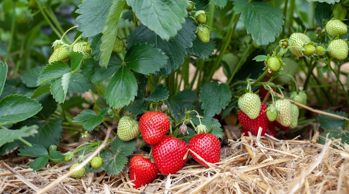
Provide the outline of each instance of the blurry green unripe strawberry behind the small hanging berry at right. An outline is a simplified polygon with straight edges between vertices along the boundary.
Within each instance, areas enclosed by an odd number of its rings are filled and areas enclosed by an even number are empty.
[[[281,75],[279,75],[275,80],[281,83],[289,83],[292,80],[291,76],[294,76],[298,71],[298,63],[288,57],[283,57],[282,61],[285,63],[282,66]],[[289,75],[286,75],[289,74]]]

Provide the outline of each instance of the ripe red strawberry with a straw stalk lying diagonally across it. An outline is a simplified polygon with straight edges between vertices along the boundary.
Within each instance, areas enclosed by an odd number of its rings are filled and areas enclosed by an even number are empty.
[[[189,149],[193,150],[206,162],[216,163],[220,161],[221,143],[218,137],[213,134],[202,133],[195,135],[194,138],[189,141]],[[196,157],[192,152],[190,152],[190,155],[196,162],[208,167],[208,165]]]

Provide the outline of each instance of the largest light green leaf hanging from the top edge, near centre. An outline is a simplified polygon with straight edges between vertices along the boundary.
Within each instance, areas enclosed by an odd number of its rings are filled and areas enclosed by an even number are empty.
[[[137,18],[162,39],[175,37],[187,17],[187,0],[127,0]]]

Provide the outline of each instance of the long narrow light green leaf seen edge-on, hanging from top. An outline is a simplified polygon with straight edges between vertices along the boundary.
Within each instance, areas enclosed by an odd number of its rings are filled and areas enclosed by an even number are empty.
[[[109,64],[110,55],[113,51],[115,38],[118,33],[119,18],[125,2],[125,0],[113,0],[113,3],[109,8],[110,11],[107,15],[105,27],[102,31],[102,45],[100,48],[102,51],[101,60],[103,61],[104,67],[107,67]]]

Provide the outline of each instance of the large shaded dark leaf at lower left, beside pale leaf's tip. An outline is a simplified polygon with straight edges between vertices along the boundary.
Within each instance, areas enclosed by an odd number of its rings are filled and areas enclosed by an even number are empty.
[[[49,120],[39,120],[32,119],[26,120],[24,124],[30,122],[32,124],[38,124],[38,134],[35,134],[34,137],[24,138],[30,143],[35,143],[42,145],[44,148],[49,149],[50,145],[58,145],[59,140],[62,137],[62,118],[55,118]]]

